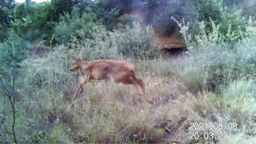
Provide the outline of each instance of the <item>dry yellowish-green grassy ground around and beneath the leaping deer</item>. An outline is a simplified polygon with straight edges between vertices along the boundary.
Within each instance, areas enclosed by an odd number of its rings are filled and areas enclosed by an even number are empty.
[[[74,100],[82,71],[69,71],[71,59],[55,51],[27,59],[16,81],[16,133],[21,143],[254,143],[256,141],[255,79],[243,78],[209,88],[213,78],[195,57],[134,62],[144,80],[150,105],[132,86],[94,80]],[[12,116],[8,99],[1,111]],[[209,129],[211,123],[237,123],[237,130]],[[191,124],[207,123],[202,130]],[[4,127],[11,133],[12,117]],[[40,132],[43,132],[43,134]],[[191,133],[199,139],[190,139]],[[45,133],[45,134],[44,134]],[[200,134],[202,133],[202,135]],[[214,133],[213,140],[200,139]],[[215,133],[227,133],[227,140]],[[11,134],[1,136],[12,142]],[[32,138],[32,139],[31,139]],[[216,139],[215,139],[216,138]]]

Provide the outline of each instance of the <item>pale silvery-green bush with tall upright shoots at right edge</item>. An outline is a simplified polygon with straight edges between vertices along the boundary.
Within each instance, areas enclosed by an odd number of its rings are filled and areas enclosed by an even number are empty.
[[[231,26],[226,34],[220,34],[221,24],[216,26],[212,20],[211,22],[213,29],[209,34],[205,32],[204,22],[198,23],[200,29],[199,34],[195,35],[195,41],[191,40],[191,34],[188,32],[189,23],[178,23],[189,50],[188,54],[196,56],[197,61],[203,61],[204,67],[212,75],[206,83],[214,90],[241,77],[254,78],[256,43],[252,19],[248,20],[246,32],[240,31],[239,35],[230,32]],[[238,37],[241,40],[237,39]]]

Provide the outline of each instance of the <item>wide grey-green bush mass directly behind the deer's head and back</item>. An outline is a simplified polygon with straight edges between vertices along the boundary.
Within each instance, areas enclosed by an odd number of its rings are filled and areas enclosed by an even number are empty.
[[[81,50],[87,60],[119,59],[122,56],[135,58],[154,58],[159,51],[151,44],[153,28],[141,29],[139,23],[133,23],[134,28],[126,26],[114,32],[101,26],[92,28],[92,39],[78,40],[73,37],[71,47]]]

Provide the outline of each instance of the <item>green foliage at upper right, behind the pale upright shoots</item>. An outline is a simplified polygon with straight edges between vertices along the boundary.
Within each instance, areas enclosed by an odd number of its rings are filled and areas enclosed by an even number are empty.
[[[245,31],[246,20],[242,16],[242,10],[238,9],[236,5],[228,7],[223,4],[222,0],[192,0],[188,2],[187,8],[189,10],[188,20],[193,23],[190,27],[192,35],[198,34],[200,28],[198,22],[202,21],[204,21],[206,34],[213,30],[211,21],[214,21],[216,25],[220,24],[220,34],[222,35],[228,33],[229,25],[231,25],[231,33],[234,32],[236,36],[239,35],[240,30]]]

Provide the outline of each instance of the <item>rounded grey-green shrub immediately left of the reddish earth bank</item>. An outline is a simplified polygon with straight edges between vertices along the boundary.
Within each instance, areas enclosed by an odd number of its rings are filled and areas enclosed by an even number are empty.
[[[133,28],[126,25],[125,29],[114,30],[110,37],[112,45],[124,56],[149,59],[159,56],[159,50],[151,43],[152,32],[152,26],[142,29],[139,22],[133,22]]]

